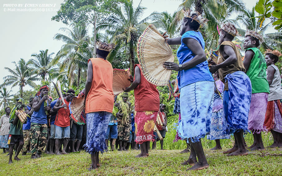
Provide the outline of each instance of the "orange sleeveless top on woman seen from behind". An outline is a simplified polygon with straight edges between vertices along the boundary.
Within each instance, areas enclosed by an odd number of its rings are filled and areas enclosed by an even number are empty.
[[[112,91],[112,64],[102,58],[90,58],[93,80],[86,97],[85,113],[106,111],[112,113],[114,94]]]

